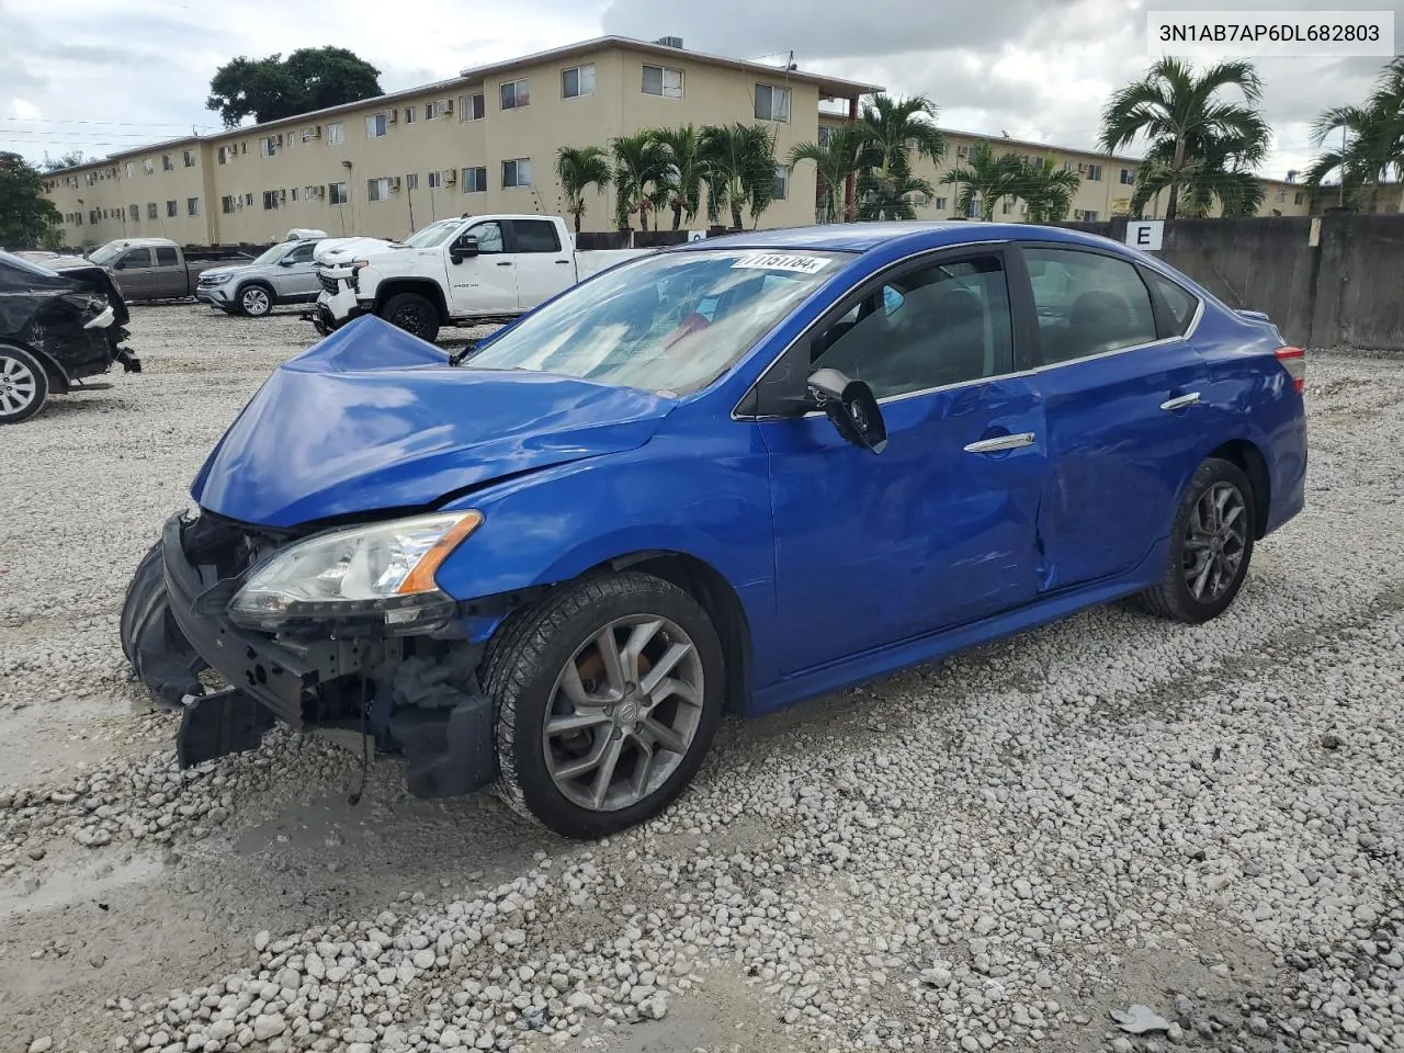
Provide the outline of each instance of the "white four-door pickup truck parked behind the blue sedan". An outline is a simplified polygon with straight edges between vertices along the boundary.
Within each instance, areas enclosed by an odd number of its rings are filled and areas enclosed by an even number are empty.
[[[316,250],[322,293],[307,314],[326,336],[378,314],[432,341],[442,326],[510,322],[651,249],[576,251],[555,216],[441,219],[403,241],[337,239]]]

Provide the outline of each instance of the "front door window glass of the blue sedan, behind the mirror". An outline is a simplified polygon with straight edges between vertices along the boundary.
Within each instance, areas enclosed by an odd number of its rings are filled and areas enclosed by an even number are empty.
[[[1008,371],[1009,293],[998,256],[893,277],[816,337],[813,369],[866,380],[873,395],[924,392]]]

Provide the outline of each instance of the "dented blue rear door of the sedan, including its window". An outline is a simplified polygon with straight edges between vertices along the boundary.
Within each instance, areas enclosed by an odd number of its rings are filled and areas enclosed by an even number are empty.
[[[1207,368],[1182,336],[1193,317],[1177,319],[1150,271],[1067,244],[1024,258],[1053,468],[1043,591],[1057,591],[1130,573],[1168,536],[1202,456]]]

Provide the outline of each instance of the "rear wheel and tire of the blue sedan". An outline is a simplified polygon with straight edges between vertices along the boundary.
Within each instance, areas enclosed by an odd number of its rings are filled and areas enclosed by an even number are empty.
[[[1228,461],[1205,461],[1175,514],[1164,577],[1137,604],[1191,625],[1217,618],[1243,588],[1255,531],[1248,476]]]

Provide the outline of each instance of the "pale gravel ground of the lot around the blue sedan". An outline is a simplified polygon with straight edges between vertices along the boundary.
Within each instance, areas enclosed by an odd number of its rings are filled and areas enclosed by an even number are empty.
[[[312,333],[132,330],[147,372],[0,439],[0,1049],[1404,1049],[1404,364],[1313,357],[1309,508],[1212,625],[733,722],[577,845],[393,765],[351,806],[320,740],[174,768],[121,594]]]

